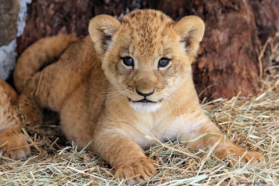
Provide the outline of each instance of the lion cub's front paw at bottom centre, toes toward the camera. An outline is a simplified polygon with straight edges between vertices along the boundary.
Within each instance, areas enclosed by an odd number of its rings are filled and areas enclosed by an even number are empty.
[[[117,169],[115,177],[119,179],[128,178],[126,180],[127,185],[135,185],[137,183],[145,182],[149,180],[155,172],[157,172],[154,163],[156,162],[149,157],[141,157],[135,160],[132,164],[123,165]]]

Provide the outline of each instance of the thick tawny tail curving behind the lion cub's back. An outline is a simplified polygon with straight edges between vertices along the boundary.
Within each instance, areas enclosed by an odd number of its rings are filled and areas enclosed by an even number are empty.
[[[14,85],[17,91],[21,93],[28,78],[44,65],[56,60],[77,39],[76,34],[58,34],[42,38],[23,51],[14,70]]]

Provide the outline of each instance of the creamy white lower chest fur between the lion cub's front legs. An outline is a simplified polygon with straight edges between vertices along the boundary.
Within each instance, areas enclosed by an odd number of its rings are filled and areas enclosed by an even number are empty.
[[[192,139],[196,135],[197,128],[204,122],[204,115],[194,117],[192,114],[181,114],[176,117],[165,117],[161,120],[145,117],[138,120],[135,125],[132,125],[130,131],[126,132],[142,149],[146,149],[155,145],[156,142],[145,136],[152,134],[162,143],[166,142],[168,137],[178,140],[182,138]]]

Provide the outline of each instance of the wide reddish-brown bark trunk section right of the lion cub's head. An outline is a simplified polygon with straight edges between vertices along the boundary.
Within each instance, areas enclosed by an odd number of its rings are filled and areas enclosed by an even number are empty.
[[[231,97],[239,91],[246,96],[259,91],[259,41],[251,6],[246,1],[219,1],[197,7],[206,23],[194,68],[198,92],[211,85],[204,96]]]

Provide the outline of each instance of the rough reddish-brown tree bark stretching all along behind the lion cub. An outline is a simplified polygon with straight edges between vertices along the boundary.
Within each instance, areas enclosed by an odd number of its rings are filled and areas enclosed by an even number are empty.
[[[198,93],[206,89],[201,98],[230,98],[239,91],[247,96],[259,90],[257,57],[260,45],[279,30],[277,0],[33,0],[17,51],[60,32],[88,34],[92,16],[121,18],[142,8],[162,10],[174,20],[194,14],[205,21],[204,39],[193,64]]]

